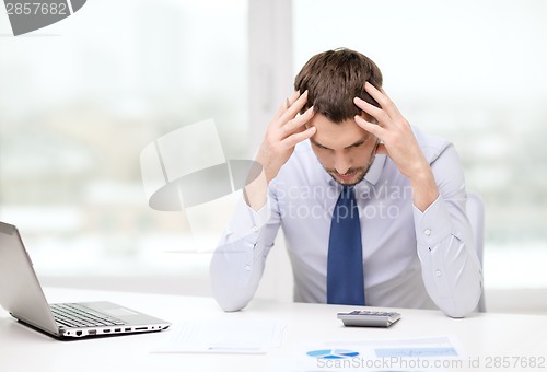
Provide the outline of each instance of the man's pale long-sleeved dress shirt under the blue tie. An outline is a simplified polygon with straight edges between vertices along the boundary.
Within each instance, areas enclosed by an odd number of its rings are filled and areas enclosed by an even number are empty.
[[[466,217],[462,165],[452,143],[414,130],[439,198],[418,210],[408,179],[386,155],[376,155],[356,185],[365,304],[437,305],[450,316],[465,316],[479,301],[482,272]],[[252,300],[279,226],[293,268],[294,299],[326,303],[330,219],[340,190],[310,141],[298,144],[270,182],[266,206],[255,212],[241,200],[217,247],[210,270],[219,304],[237,311]]]

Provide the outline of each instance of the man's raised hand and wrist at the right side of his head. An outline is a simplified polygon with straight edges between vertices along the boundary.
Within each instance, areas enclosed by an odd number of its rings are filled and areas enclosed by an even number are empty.
[[[439,190],[431,166],[423,156],[410,124],[383,90],[379,91],[369,82],[365,82],[364,89],[381,108],[359,97],[356,97],[353,103],[377,123],[369,123],[361,116],[356,116],[356,123],[382,140],[383,143],[379,146],[376,153],[387,154],[399,172],[410,181],[414,204],[424,211],[437,199]]]

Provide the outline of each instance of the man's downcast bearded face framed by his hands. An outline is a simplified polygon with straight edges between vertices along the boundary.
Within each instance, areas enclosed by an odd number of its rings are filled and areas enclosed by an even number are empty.
[[[310,139],[312,149],[325,171],[341,185],[356,185],[372,165],[377,139],[353,119],[333,123],[324,115],[315,115],[307,126],[317,131]]]

